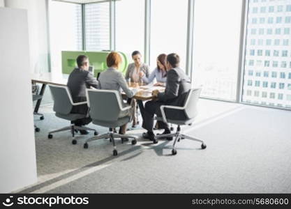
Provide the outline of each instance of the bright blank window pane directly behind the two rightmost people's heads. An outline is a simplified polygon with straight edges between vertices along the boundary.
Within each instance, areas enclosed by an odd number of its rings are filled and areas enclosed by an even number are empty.
[[[151,68],[159,54],[177,53],[185,70],[187,13],[188,0],[151,1]]]

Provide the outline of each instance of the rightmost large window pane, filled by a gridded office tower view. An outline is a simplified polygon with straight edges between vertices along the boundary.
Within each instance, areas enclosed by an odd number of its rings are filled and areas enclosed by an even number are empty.
[[[285,83],[288,83],[288,73],[291,72],[291,68],[288,68],[288,62],[290,61],[290,13],[286,13],[285,9],[290,0],[273,0],[273,1],[249,1],[248,11],[252,11],[253,8],[271,8],[270,13],[260,14],[260,17],[264,17],[267,20],[276,20],[269,22],[268,24],[252,24],[248,21],[246,26],[247,31],[252,31],[254,29],[264,28],[267,31],[278,31],[275,35],[270,36],[267,34],[257,35],[252,33],[246,33],[246,52],[249,49],[258,50],[262,49],[264,51],[263,56],[245,56],[245,66],[244,66],[244,91],[242,101],[253,104],[262,104],[277,107],[291,107],[291,101],[288,100],[288,90],[285,88]],[[276,13],[273,12],[272,8],[278,8]],[[248,12],[248,20],[258,17],[258,14]],[[283,21],[284,20],[284,21]],[[282,32],[281,32],[282,31]],[[257,43],[251,45],[251,40],[258,40],[263,38],[263,45],[258,46]],[[271,53],[270,53],[271,52]],[[249,66],[247,63],[249,59],[256,59],[257,61],[264,61],[264,63],[271,63],[271,65],[264,66]],[[265,81],[262,83],[261,88],[255,88],[254,86],[248,85],[248,79],[252,76],[248,74],[249,70],[264,71],[264,74],[270,74],[270,77],[264,77]],[[268,85],[271,84],[271,85]],[[260,91],[258,97],[253,97],[248,95],[246,90],[256,90]],[[271,95],[266,97],[265,95]]]

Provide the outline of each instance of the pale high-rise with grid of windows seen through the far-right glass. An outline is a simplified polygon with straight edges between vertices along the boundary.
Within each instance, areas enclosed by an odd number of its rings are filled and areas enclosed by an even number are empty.
[[[288,100],[290,90],[287,83],[291,78],[291,0],[249,1],[248,23],[246,26],[246,52],[253,50],[257,53],[245,53],[244,90],[257,91],[253,95],[243,91],[242,101],[275,107],[290,108]],[[266,10],[267,8],[267,10]],[[258,13],[252,11],[258,10]],[[257,23],[253,23],[258,19]],[[264,19],[264,20],[263,20]],[[248,31],[259,30],[258,34]],[[266,31],[263,33],[262,31]],[[260,40],[263,44],[260,45]],[[249,65],[253,62],[263,65]],[[250,86],[250,80],[256,75],[250,75],[248,70],[262,72],[262,86],[258,82]],[[270,75],[270,76],[269,76]],[[290,85],[291,86],[291,85]]]

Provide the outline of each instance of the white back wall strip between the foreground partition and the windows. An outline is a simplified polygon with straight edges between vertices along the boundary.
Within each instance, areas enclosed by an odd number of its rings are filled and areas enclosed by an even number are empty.
[[[9,8],[27,10],[29,23],[30,71],[47,72],[47,0],[5,0]]]

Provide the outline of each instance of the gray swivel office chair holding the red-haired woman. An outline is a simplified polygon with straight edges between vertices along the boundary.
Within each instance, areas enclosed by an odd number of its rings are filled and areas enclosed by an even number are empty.
[[[115,146],[114,138],[132,139],[131,144],[135,145],[137,137],[128,134],[114,133],[114,127],[119,127],[130,122],[130,105],[122,102],[121,95],[115,90],[97,90],[87,89],[87,101],[90,107],[89,114],[92,118],[92,123],[103,127],[109,127],[110,132],[97,137],[87,139],[84,148],[88,148],[89,141],[97,139],[110,139],[113,146],[113,155],[117,155],[117,146]]]

